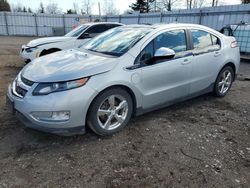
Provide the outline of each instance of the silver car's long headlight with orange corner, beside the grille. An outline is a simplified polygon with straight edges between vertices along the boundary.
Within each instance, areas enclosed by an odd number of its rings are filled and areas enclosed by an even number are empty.
[[[40,83],[33,91],[33,95],[48,95],[53,92],[65,91],[77,87],[81,87],[86,84],[89,78],[81,78],[78,80],[56,82],[56,83]]]

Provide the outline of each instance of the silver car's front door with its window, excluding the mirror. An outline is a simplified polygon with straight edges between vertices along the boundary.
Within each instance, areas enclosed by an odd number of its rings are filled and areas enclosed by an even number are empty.
[[[175,51],[175,57],[147,64],[161,47]],[[143,109],[170,104],[189,94],[193,55],[188,51],[184,30],[167,31],[151,41],[139,55],[142,67]]]

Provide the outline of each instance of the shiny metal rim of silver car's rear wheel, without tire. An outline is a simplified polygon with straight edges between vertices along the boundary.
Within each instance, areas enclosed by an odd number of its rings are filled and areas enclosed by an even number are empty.
[[[228,91],[232,83],[232,74],[230,71],[226,70],[221,74],[220,81],[218,83],[218,90],[221,94]]]

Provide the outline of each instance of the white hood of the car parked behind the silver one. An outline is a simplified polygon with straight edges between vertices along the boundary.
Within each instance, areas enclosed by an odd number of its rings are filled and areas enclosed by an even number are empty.
[[[73,37],[45,37],[45,38],[39,38],[30,41],[27,46],[28,47],[35,47],[35,46],[40,46],[43,44],[49,44],[49,43],[54,43],[54,42],[64,42],[64,41],[69,41],[74,39]]]

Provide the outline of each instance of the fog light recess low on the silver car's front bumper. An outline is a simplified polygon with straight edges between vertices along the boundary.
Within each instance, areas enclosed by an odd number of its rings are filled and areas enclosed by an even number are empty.
[[[67,121],[70,118],[69,111],[55,111],[55,112],[32,112],[31,116],[38,121]]]

